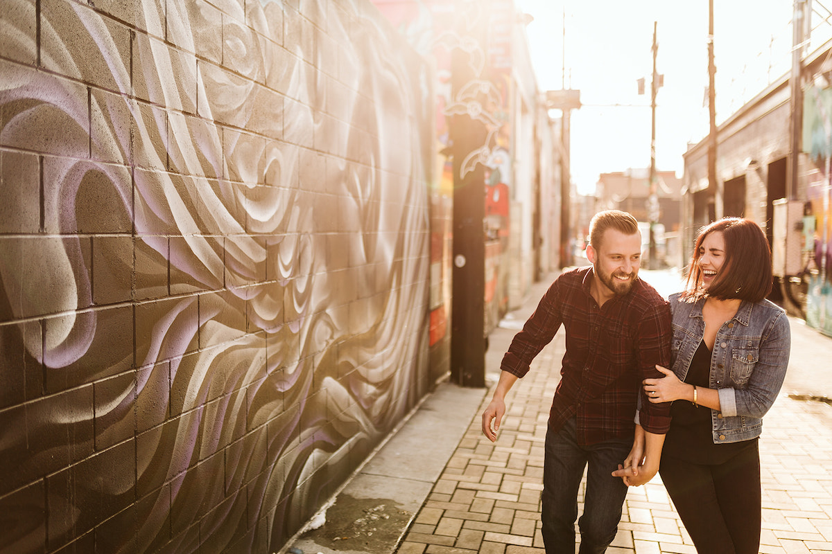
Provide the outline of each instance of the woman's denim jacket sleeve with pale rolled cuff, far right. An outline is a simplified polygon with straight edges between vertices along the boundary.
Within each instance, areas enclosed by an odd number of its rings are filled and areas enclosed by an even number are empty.
[[[743,389],[719,390],[722,415],[762,418],[775,403],[785,380],[791,351],[789,318],[780,313],[760,340],[760,355]]]

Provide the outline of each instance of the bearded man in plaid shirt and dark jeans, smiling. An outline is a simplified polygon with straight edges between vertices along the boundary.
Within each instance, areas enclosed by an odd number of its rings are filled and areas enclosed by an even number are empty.
[[[605,552],[616,536],[626,484],[613,472],[624,465],[627,483],[649,481],[659,468],[670,425],[670,404],[652,404],[641,380],[669,367],[669,304],[638,278],[641,233],[629,213],[600,212],[590,223],[587,258],[557,277],[503,356],[493,400],[483,412],[483,434],[492,442],[505,414],[505,396],[534,357],[566,328],[566,355],[546,435],[542,534],[547,554],[575,552],[577,493],[584,468],[587,491],[581,554]],[[638,420],[644,439],[634,446]],[[643,430],[643,432],[642,432]],[[632,452],[631,452],[632,450]],[[643,458],[641,454],[643,455]],[[634,460],[634,463],[630,463]],[[637,469],[632,469],[637,467]]]

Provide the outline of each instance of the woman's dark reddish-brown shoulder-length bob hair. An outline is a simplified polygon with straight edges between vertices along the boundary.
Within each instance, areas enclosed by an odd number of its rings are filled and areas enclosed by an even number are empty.
[[[726,259],[711,286],[705,289],[698,263],[700,249],[705,238],[714,232],[721,232],[725,238]],[[771,283],[771,248],[760,225],[745,218],[722,218],[700,229],[687,269],[684,297],[689,300],[713,297],[760,302],[769,296]]]

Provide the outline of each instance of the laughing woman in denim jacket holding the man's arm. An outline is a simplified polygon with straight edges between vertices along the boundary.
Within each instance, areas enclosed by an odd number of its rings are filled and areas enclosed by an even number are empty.
[[[673,402],[659,473],[701,554],[759,552],[757,439],[790,352],[785,311],[765,300],[771,282],[759,225],[703,228],[686,290],[670,297],[672,371],[656,366],[666,376],[644,380],[651,402]]]

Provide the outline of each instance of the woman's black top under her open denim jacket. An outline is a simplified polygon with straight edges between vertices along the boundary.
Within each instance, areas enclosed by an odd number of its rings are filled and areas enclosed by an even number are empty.
[[[710,386],[711,351],[701,341],[691,360],[685,377],[688,385]],[[675,400],[671,405],[671,429],[667,432],[662,455],[682,458],[691,463],[725,463],[742,449],[753,445],[757,439],[738,443],[714,444],[711,409],[695,406],[687,400]]]

